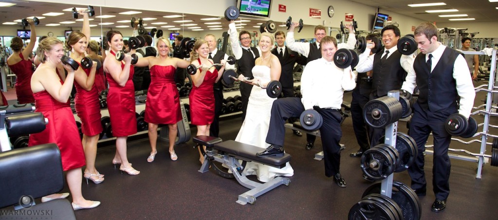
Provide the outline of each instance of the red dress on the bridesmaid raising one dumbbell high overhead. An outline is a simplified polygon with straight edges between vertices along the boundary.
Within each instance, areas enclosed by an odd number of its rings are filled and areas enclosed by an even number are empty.
[[[80,64],[81,66],[81,64]],[[90,69],[83,68],[83,71],[90,75]],[[102,132],[102,124],[100,123],[100,102],[97,88],[92,86],[92,90],[83,89],[76,81],[76,96],[74,98],[76,114],[81,120],[81,131],[86,136],[98,135]]]

